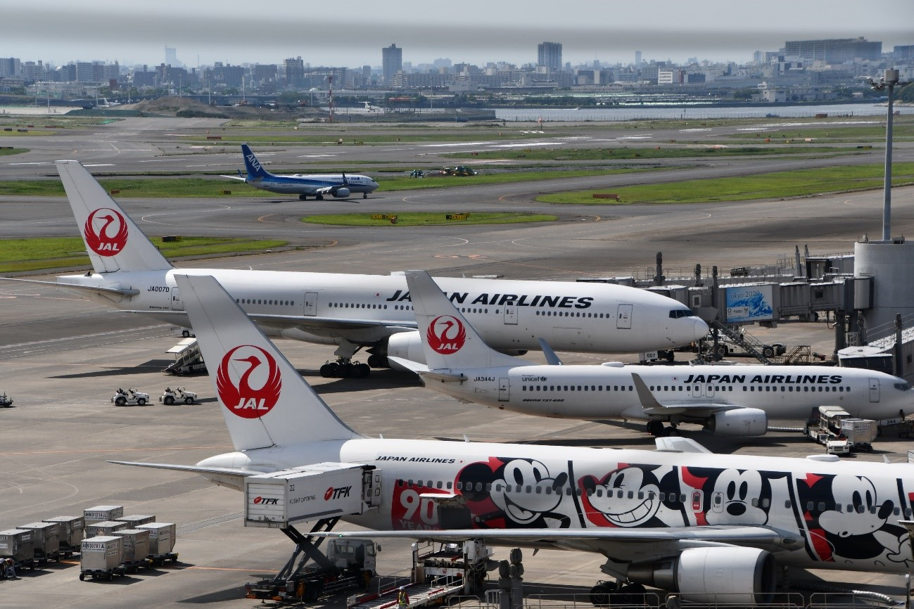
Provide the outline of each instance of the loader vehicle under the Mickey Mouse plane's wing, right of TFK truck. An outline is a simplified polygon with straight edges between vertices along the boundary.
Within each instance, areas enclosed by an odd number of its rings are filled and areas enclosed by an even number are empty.
[[[349,609],[387,609],[399,606],[399,591],[407,593],[408,607],[442,604],[455,594],[483,590],[492,550],[483,541],[412,544],[412,582],[394,583],[379,593],[361,594],[348,600]]]

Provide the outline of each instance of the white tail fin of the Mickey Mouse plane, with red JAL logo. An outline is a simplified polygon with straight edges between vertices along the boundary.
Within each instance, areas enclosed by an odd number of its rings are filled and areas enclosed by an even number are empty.
[[[236,450],[361,437],[209,276],[175,275]]]

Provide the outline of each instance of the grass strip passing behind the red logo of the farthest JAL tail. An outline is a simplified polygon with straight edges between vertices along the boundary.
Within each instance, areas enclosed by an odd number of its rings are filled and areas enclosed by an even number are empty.
[[[230,255],[283,247],[281,239],[253,240],[222,237],[188,236],[168,243],[154,240],[155,247],[166,258]],[[90,266],[89,256],[78,236],[31,239],[0,239],[0,273]]]

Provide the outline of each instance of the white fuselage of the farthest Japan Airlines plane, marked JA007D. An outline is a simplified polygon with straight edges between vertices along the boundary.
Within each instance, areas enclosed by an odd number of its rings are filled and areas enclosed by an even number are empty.
[[[374,345],[415,329],[406,280],[399,275],[182,268],[58,281],[136,289],[139,294],[132,298],[100,298],[122,310],[186,326],[175,273],[217,278],[271,335]],[[543,337],[563,351],[643,352],[696,341],[707,331],[695,316],[682,316],[687,312],[683,305],[642,289],[560,281],[438,280],[495,349],[538,349],[537,338]]]

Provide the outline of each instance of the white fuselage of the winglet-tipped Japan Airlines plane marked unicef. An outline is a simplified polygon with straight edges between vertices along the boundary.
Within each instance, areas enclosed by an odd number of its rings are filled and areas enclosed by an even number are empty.
[[[759,408],[771,418],[803,420],[813,407],[887,419],[914,412],[914,391],[898,377],[830,366],[530,365],[460,372],[463,382],[428,380],[436,391],[528,415],[574,419],[648,419],[632,381],[638,374],[660,404],[688,420],[688,405]],[[683,406],[679,409],[676,406]],[[656,413],[662,416],[662,413]]]

